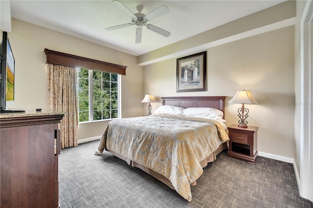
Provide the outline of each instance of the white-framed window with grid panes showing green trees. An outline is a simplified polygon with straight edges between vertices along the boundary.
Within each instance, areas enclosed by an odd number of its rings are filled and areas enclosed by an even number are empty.
[[[77,69],[79,122],[119,117],[119,75]]]

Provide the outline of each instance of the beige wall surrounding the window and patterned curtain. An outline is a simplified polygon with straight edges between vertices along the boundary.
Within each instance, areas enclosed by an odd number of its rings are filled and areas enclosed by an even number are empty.
[[[113,50],[44,27],[12,19],[12,33],[8,33],[15,57],[15,104],[9,108],[47,108],[47,72],[44,49],[83,56],[104,62],[127,65],[121,78],[122,117],[142,114],[143,67],[135,56]],[[81,124],[78,139],[102,134],[105,122]]]

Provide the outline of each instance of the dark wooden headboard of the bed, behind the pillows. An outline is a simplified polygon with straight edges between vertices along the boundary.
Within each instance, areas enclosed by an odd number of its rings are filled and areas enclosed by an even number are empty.
[[[207,97],[162,97],[162,105],[174,105],[183,108],[188,107],[214,107],[224,111],[226,96]],[[223,116],[224,119],[224,116]]]

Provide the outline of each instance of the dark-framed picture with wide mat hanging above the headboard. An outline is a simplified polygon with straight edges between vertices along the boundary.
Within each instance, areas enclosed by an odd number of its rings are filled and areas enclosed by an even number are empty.
[[[206,51],[177,59],[177,92],[206,90]]]

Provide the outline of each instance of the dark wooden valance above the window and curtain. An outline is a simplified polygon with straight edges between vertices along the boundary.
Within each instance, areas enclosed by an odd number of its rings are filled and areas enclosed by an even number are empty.
[[[127,66],[109,62],[102,62],[58,51],[52,51],[47,48],[45,48],[45,54],[46,54],[46,63],[53,63],[64,66],[86,68],[91,70],[126,75]]]

